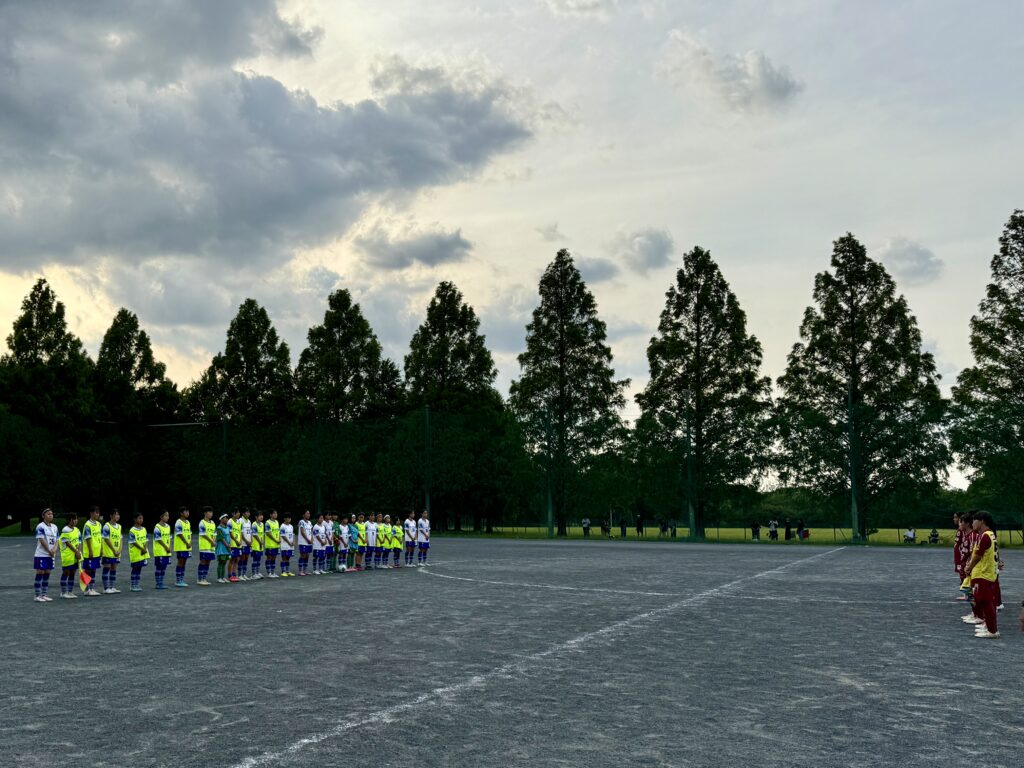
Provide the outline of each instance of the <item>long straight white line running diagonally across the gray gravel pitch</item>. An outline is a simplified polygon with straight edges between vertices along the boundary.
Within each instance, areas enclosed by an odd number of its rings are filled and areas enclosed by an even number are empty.
[[[609,624],[607,627],[602,627],[599,630],[594,630],[592,632],[585,632],[582,635],[566,640],[561,643],[556,643],[551,645],[545,650],[538,651],[536,653],[530,653],[525,656],[518,657],[515,662],[510,662],[508,664],[497,667],[489,672],[480,673],[479,675],[473,675],[472,677],[463,680],[460,683],[453,683],[452,685],[441,686],[439,688],[434,688],[433,690],[427,691],[426,693],[421,693],[419,696],[411,701],[404,703],[394,705],[392,707],[387,707],[377,712],[371,713],[370,715],[355,719],[355,716],[351,716],[351,719],[347,719],[345,722],[339,723],[334,728],[313,732],[307,736],[296,739],[288,746],[280,750],[278,752],[264,753],[263,755],[256,755],[253,757],[246,758],[245,760],[236,763],[231,768],[258,768],[258,766],[269,765],[278,763],[284,758],[289,758],[303,750],[314,746],[315,744],[326,741],[331,738],[338,738],[343,736],[349,731],[355,730],[356,728],[361,728],[368,725],[376,725],[378,723],[391,723],[397,718],[409,713],[412,710],[416,710],[424,705],[437,705],[446,703],[451,701],[455,696],[476,688],[481,688],[488,682],[496,678],[507,677],[515,673],[523,673],[531,669],[534,665],[542,659],[548,658],[558,653],[562,653],[566,650],[574,650],[581,645],[589,643],[592,640],[599,638],[606,638],[609,636],[617,635],[618,633],[630,630],[653,618],[665,615],[666,613],[671,613],[679,608],[689,607],[692,605],[699,605],[700,603],[721,595],[733,587],[740,584],[745,584],[746,582],[753,582],[756,579],[762,579],[766,575],[772,573],[778,573],[786,568],[794,565],[801,565],[811,560],[817,560],[818,558],[825,557],[826,555],[834,554],[836,552],[841,552],[846,549],[846,547],[837,547],[836,549],[828,550],[827,552],[819,552],[816,555],[810,557],[804,557],[799,560],[792,560],[791,562],[779,565],[778,567],[771,568],[769,570],[763,570],[760,573],[755,573],[749,577],[742,577],[741,579],[736,579],[728,584],[723,584],[719,587],[713,587],[710,590],[705,590],[703,592],[698,592],[695,595],[687,597],[683,600],[678,600],[669,605],[665,605],[660,608],[655,608],[653,610],[648,610],[644,613],[638,613],[637,615],[631,616],[630,618],[624,618],[621,622],[615,622]]]

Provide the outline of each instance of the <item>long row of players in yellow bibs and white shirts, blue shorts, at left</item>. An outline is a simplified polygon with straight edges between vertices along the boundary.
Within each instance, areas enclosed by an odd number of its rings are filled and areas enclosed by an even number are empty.
[[[189,510],[181,507],[173,527],[170,514],[163,511],[150,531],[141,514],[124,530],[121,514],[111,511],[103,520],[99,507],[92,507],[88,519],[78,526],[78,515],[68,517],[58,532],[53,512],[43,510],[36,526],[33,567],[36,571],[36,602],[51,602],[50,573],[60,564],[60,596],[74,599],[78,582],[87,597],[115,595],[124,547],[128,549],[132,592],[142,590],[142,572],[151,560],[158,590],[167,589],[166,573],[173,560],[174,586],[188,587],[185,581],[193,555],[193,524]],[[327,575],[385,568],[427,565],[430,550],[430,519],[424,511],[419,519],[411,511],[399,523],[390,515],[336,513],[317,514],[308,510],[292,524],[292,516],[279,519],[276,510],[265,516],[261,511],[236,509],[214,521],[213,509],[204,507],[197,525],[199,563],[196,584],[210,586],[210,570],[216,565],[220,584],[278,579],[282,577]],[[404,559],[402,558],[404,555]],[[297,571],[293,570],[297,561]],[[310,565],[311,562],[311,565]],[[280,571],[279,571],[280,568]],[[101,591],[96,587],[99,573]]]

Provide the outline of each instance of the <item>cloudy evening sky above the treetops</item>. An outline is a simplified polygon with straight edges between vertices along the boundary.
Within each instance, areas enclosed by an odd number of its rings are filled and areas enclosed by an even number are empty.
[[[776,377],[851,231],[948,391],[1022,69],[1016,0],[0,0],[0,329],[45,275],[90,353],[126,306],[185,386],[247,297],[297,359],[347,288],[400,367],[450,280],[507,392],[568,248],[632,395],[685,252]]]

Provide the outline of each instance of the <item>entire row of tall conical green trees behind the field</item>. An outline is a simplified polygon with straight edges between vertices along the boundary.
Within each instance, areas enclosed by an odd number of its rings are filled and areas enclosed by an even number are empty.
[[[541,278],[520,375],[504,400],[473,308],[441,283],[403,370],[347,290],[335,291],[294,370],[266,310],[246,300],[222,352],[183,391],[121,309],[96,360],[40,280],[0,359],[0,498],[43,504],[171,499],[335,508],[427,503],[459,524],[542,519],[560,531],[608,509],[742,522],[798,500],[808,521],[921,520],[948,506],[954,460],[972,500],[1024,509],[1024,213],[1015,211],[971,321],[975,365],[943,397],[933,356],[885,267],[834,244],[784,374],[711,254],[694,248],[647,346],[641,415],[622,418],[593,294],[559,251]],[[190,427],[168,425],[191,424]],[[776,511],[775,514],[778,514]]]

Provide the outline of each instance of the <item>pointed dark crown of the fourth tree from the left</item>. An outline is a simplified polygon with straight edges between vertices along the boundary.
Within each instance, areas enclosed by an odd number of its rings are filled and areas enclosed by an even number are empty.
[[[346,421],[397,408],[398,370],[383,357],[370,323],[347,290],[331,294],[324,323],[310,328],[306,338],[308,346],[295,369],[296,389],[316,418]]]

